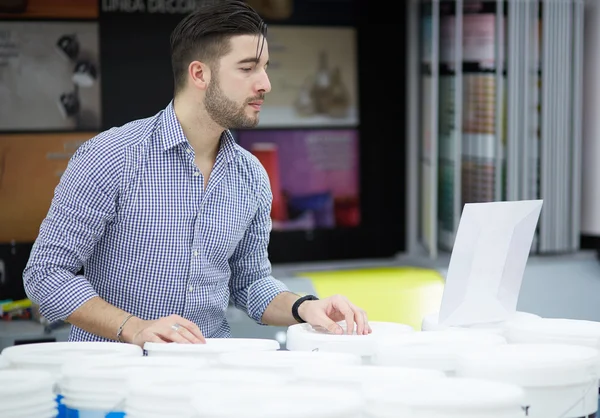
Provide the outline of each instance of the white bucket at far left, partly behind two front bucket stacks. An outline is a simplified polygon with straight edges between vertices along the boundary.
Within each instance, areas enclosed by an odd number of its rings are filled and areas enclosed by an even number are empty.
[[[49,372],[55,383],[60,380],[64,364],[86,357],[142,357],[141,347],[117,342],[54,342],[23,344],[6,347],[2,356],[11,369],[43,370]],[[66,407],[62,404],[62,392],[58,384],[54,388],[58,404],[58,418],[66,418]]]

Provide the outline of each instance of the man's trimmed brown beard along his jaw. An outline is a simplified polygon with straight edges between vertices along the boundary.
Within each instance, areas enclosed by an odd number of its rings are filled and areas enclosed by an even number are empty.
[[[215,77],[206,90],[204,105],[208,115],[219,126],[225,129],[248,129],[258,125],[258,115],[251,117],[246,114],[246,107],[253,100],[257,98],[249,99],[240,106],[223,93],[219,79]]]

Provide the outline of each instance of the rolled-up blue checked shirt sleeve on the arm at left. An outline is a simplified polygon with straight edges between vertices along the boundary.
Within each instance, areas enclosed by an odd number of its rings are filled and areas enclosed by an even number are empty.
[[[51,322],[97,296],[79,272],[116,213],[121,157],[96,137],[73,155],[55,189],[23,272],[27,296]]]

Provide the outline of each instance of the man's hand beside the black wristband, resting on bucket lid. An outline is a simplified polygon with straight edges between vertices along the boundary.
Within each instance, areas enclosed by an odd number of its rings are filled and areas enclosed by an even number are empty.
[[[298,315],[313,327],[324,328],[333,334],[344,333],[337,324],[342,320],[346,320],[348,334],[354,332],[355,324],[357,335],[373,332],[369,326],[367,313],[340,295],[303,302],[298,308]]]

